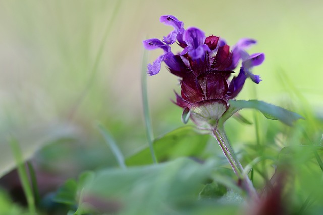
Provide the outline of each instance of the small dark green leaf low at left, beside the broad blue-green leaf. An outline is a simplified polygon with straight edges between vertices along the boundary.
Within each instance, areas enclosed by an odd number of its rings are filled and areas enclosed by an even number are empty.
[[[54,201],[67,205],[76,204],[77,183],[74,179],[67,180],[56,193]]]

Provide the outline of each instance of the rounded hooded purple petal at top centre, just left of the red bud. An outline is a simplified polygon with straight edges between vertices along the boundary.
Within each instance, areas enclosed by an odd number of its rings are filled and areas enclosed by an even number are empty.
[[[183,35],[183,40],[186,44],[194,49],[204,44],[205,39],[205,33],[195,27],[188,28]]]

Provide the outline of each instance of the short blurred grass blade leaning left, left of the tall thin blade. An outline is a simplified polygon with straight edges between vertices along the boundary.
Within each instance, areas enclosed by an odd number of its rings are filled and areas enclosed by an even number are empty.
[[[112,153],[117,159],[117,162],[119,166],[123,169],[126,169],[126,163],[125,163],[125,158],[123,154],[121,153],[118,145],[116,144],[115,140],[113,139],[112,135],[107,131],[107,129],[100,123],[97,124],[98,129],[100,130],[100,133],[104,137],[104,140],[106,144],[109,146],[111,149]]]

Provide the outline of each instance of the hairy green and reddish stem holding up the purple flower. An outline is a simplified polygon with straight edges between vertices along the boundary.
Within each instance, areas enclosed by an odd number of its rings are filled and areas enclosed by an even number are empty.
[[[222,149],[222,152],[226,156],[229,164],[231,165],[233,172],[238,176],[239,179],[241,179],[243,188],[246,190],[246,192],[249,194],[252,200],[258,202],[259,196],[257,194],[257,191],[253,187],[248,175],[243,174],[243,167],[239,159],[235,155],[231,145],[229,144],[223,126],[218,125],[216,128],[214,128],[214,130],[212,131],[212,135],[214,138],[216,138],[220,148]]]

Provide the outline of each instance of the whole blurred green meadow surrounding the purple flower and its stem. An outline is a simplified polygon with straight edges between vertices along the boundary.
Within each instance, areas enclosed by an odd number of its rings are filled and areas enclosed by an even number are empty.
[[[322,214],[319,1],[0,5],[0,215]],[[226,121],[257,203],[217,141],[182,122],[171,101],[178,77],[165,64],[146,74],[163,51],[144,50],[143,40],[172,30],[159,22],[165,14],[231,46],[257,40],[248,52],[265,54],[253,69],[262,81],[247,79],[235,99],[302,117],[257,106]]]

